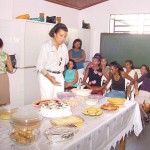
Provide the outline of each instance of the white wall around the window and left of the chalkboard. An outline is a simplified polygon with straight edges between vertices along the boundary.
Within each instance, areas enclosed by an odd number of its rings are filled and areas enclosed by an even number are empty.
[[[150,0],[109,0],[80,11],[79,22],[85,20],[94,30],[93,54],[100,51],[100,33],[109,32],[110,14],[150,13],[149,6]]]

